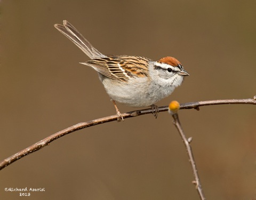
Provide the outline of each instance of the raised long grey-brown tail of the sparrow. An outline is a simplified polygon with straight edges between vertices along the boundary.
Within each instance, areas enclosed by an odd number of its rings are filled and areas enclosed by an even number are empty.
[[[63,25],[54,25],[54,27],[77,45],[90,59],[106,58],[106,55],[95,49],[67,20],[63,20]]]

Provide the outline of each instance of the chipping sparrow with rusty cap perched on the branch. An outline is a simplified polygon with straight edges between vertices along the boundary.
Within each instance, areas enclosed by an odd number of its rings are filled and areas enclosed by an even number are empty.
[[[123,120],[115,101],[131,107],[151,106],[157,115],[157,101],[169,96],[189,76],[173,57],[151,60],[140,56],[104,55],[95,49],[74,26],[64,20],[54,25],[75,43],[91,60],[81,62],[96,70],[100,81],[114,103],[117,121]],[[154,111],[154,110],[153,110]]]

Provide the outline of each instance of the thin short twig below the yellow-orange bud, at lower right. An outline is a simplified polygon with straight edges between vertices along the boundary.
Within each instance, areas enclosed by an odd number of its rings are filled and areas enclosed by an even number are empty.
[[[181,124],[180,124],[178,113],[173,114],[172,117],[174,119],[173,123],[177,127],[177,130],[179,131],[180,136],[182,138],[182,141],[183,141],[183,143],[186,147],[187,153],[188,153],[189,162],[191,164],[191,167],[193,169],[193,174],[194,174],[194,177],[195,177],[195,181],[193,181],[193,183],[196,185],[196,189],[197,189],[197,192],[198,192],[200,198],[202,200],[205,200],[205,196],[204,196],[204,193],[203,193],[203,188],[201,186],[199,175],[198,175],[198,172],[197,172],[197,169],[196,169],[196,163],[195,163],[195,159],[194,159],[194,156],[193,156],[193,151],[192,151],[192,148],[190,146],[191,138],[189,138],[189,139],[186,138],[186,135],[183,132],[183,129],[182,129]]]

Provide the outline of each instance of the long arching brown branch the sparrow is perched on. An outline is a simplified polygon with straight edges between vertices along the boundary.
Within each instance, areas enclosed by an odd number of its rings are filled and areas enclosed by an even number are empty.
[[[253,104],[253,105],[256,105],[256,97],[254,96],[254,99],[211,100],[211,101],[198,101],[198,102],[183,103],[180,105],[180,109],[191,109],[191,108],[198,109],[198,107],[200,107],[200,106],[220,105],[220,104]],[[167,110],[168,110],[168,106],[158,107],[159,112],[163,112],[163,111],[167,111]],[[143,110],[131,111],[129,113],[124,113],[122,115],[124,118],[130,118],[130,117],[137,117],[140,115],[146,115],[146,114],[151,114],[151,113],[152,113],[151,109],[143,109]],[[39,149],[42,149],[43,147],[49,145],[52,141],[54,141],[64,135],[67,135],[74,131],[78,131],[80,129],[84,129],[89,126],[94,126],[94,125],[112,122],[112,121],[116,121],[116,120],[117,120],[117,116],[113,115],[113,116],[94,119],[92,121],[82,122],[82,123],[78,123],[76,125],[70,126],[67,129],[64,129],[62,131],[54,133],[54,134],[50,135],[49,137],[47,137],[39,142],[36,142],[34,145],[31,145],[30,147],[27,147],[26,149],[23,149],[23,150],[19,151],[18,153],[4,159],[3,161],[0,162],[0,170],[4,169],[4,167],[12,164],[13,162],[17,161],[18,159],[25,157],[28,154],[34,153],[35,151],[37,151]]]

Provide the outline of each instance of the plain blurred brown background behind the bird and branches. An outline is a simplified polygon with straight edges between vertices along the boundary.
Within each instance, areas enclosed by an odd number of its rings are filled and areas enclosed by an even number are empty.
[[[114,115],[88,58],[54,27],[67,19],[102,53],[171,55],[189,72],[168,98],[256,95],[255,1],[2,1],[0,159],[59,130]],[[135,108],[118,105],[122,112]],[[256,107],[181,110],[207,199],[253,199]],[[186,150],[160,113],[63,138],[0,172],[4,188],[45,188],[29,199],[199,199]]]

